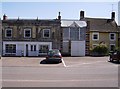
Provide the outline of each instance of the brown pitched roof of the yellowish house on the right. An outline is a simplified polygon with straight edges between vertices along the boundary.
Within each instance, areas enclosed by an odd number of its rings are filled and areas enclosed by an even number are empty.
[[[86,22],[90,23],[90,31],[98,32],[118,32],[118,26],[115,20],[104,18],[85,18]]]

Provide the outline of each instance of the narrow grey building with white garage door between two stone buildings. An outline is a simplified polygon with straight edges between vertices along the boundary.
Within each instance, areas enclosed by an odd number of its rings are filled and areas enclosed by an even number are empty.
[[[61,20],[63,55],[85,56],[86,26],[85,21]]]

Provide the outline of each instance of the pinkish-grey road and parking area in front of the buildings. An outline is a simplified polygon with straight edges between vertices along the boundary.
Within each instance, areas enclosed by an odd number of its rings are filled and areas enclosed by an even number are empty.
[[[3,57],[2,87],[118,87],[119,64],[108,57],[64,57],[60,64],[44,58]]]

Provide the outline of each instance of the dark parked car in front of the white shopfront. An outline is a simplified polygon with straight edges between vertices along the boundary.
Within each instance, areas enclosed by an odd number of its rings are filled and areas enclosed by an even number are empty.
[[[47,57],[46,57],[46,61],[61,63],[62,55],[61,55],[60,51],[58,49],[49,50]]]

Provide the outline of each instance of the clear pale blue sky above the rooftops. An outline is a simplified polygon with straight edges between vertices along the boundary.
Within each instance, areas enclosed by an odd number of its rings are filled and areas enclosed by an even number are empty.
[[[46,0],[44,0],[46,1]],[[58,12],[61,12],[62,19],[79,19],[80,11],[85,11],[85,17],[92,18],[111,18],[111,12],[116,13],[116,22],[118,22],[118,1],[117,0],[101,0],[101,2],[87,1],[79,2],[77,0],[64,2],[43,2],[36,0],[23,0],[15,2],[15,0],[4,0],[0,3],[0,12],[12,18],[26,19],[55,19]]]

